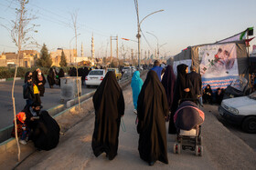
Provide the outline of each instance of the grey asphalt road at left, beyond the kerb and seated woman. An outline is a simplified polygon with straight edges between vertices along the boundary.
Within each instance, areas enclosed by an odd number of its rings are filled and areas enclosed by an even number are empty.
[[[0,82],[0,129],[7,125],[13,124],[13,102],[12,102],[12,85],[13,81]],[[24,80],[16,80],[15,86],[15,98],[16,98],[16,112],[21,111],[26,105],[25,99],[23,99]],[[95,90],[95,87],[86,88],[85,85],[81,86],[82,95]],[[59,85],[54,85],[54,88],[49,88],[46,84],[45,96],[41,97],[43,109],[47,110],[51,107],[60,104],[60,88]]]

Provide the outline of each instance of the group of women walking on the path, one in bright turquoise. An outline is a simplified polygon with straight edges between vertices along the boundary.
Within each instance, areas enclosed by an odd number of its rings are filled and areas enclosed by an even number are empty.
[[[134,72],[134,113],[137,114],[138,150],[149,165],[159,160],[168,164],[165,121],[169,113],[169,134],[176,134],[173,116],[181,98],[193,98],[192,85],[187,77],[187,65],[177,66],[177,78],[171,65],[167,65],[162,82],[155,71],[150,70],[146,79]],[[124,115],[123,91],[113,72],[108,72],[93,95],[95,126],[92,149],[95,156],[106,153],[112,160],[117,155],[121,117]]]

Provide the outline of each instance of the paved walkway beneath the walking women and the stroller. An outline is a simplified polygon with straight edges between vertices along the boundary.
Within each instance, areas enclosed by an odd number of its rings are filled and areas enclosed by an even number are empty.
[[[173,154],[174,135],[167,135],[169,165],[157,161],[154,166],[148,166],[140,159],[137,150],[139,135],[134,124],[136,115],[133,114],[133,95],[130,86],[123,90],[123,95],[125,100],[123,121],[126,132],[123,132],[122,127],[120,127],[118,155],[114,160],[109,161],[104,154],[98,158],[92,154],[91,135],[94,128],[94,112],[89,112],[80,120],[79,124],[74,125],[65,135],[61,136],[57,148],[48,152],[36,151],[18,165],[16,169],[255,168],[256,155],[251,147],[245,145],[237,136],[232,135],[229,130],[219,123],[214,115],[208,112],[202,127],[204,137],[204,155],[202,157],[196,156],[194,152],[189,150],[182,150],[180,155]],[[69,120],[67,119],[66,122]],[[65,122],[65,119],[62,121]],[[33,149],[33,145],[31,143],[29,145],[30,148],[25,148],[27,146],[22,145],[22,155],[28,149]],[[15,165],[16,150],[0,155],[0,169],[11,169]]]

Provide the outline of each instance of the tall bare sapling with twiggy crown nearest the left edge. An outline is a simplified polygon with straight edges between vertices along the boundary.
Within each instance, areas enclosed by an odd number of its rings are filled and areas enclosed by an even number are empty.
[[[12,100],[13,100],[13,107],[14,107],[14,120],[15,120],[15,133],[16,133],[16,145],[17,145],[17,159],[20,161],[20,146],[18,143],[18,137],[17,137],[17,129],[16,129],[16,101],[15,101],[15,84],[16,84],[16,72],[17,72],[17,66],[20,64],[21,59],[21,50],[28,46],[28,45],[37,45],[34,41],[34,38],[32,36],[29,36],[29,33],[34,31],[35,26],[37,25],[30,25],[30,21],[36,19],[35,16],[31,16],[27,14],[26,5],[28,4],[28,0],[14,0],[19,7],[16,8],[16,20],[11,21],[12,27],[8,28],[5,25],[4,26],[10,33],[13,42],[17,46],[17,58],[16,58],[16,70],[14,75],[14,81],[12,86]],[[37,31],[35,31],[37,32]]]

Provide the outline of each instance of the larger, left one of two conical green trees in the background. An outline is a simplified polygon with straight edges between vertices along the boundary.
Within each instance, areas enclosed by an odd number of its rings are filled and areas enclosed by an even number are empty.
[[[50,67],[52,65],[52,60],[48,54],[47,45],[43,45],[40,51],[40,58],[37,59],[37,65],[42,67]]]

